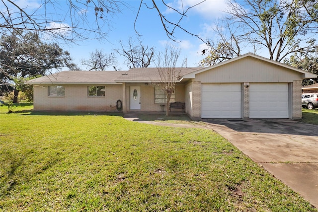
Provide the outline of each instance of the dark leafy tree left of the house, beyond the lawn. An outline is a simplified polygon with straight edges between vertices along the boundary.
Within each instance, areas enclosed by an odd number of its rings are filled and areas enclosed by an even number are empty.
[[[13,79],[44,75],[46,71],[68,67],[73,69],[70,53],[58,44],[44,43],[32,32],[14,30],[2,35],[0,41],[0,83],[10,85]],[[18,90],[14,90],[13,102],[17,101]]]

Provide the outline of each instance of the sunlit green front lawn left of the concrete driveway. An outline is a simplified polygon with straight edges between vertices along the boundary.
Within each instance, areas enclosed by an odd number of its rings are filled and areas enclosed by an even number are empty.
[[[0,107],[0,211],[317,212],[212,131],[31,107]]]

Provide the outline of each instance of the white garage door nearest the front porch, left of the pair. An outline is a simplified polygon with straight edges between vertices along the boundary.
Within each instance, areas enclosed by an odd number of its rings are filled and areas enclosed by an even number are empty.
[[[241,86],[236,84],[202,84],[202,118],[241,118]]]

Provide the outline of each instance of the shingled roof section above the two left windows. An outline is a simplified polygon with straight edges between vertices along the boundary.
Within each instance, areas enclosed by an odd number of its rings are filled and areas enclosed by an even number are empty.
[[[31,79],[30,84],[116,84],[127,71],[61,71]]]

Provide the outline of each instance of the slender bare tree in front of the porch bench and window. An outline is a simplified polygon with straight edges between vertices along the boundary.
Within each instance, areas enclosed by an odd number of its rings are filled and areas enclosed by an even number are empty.
[[[166,101],[166,116],[169,116],[169,103],[171,95],[175,91],[175,84],[180,79],[180,68],[176,68],[178,58],[180,56],[180,49],[173,46],[166,46],[163,54],[158,55],[157,70],[160,75],[159,86],[167,97]]]

